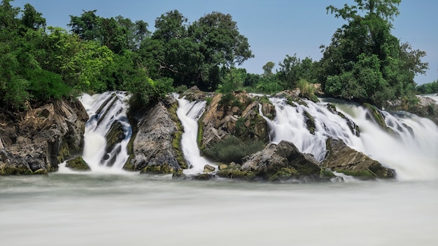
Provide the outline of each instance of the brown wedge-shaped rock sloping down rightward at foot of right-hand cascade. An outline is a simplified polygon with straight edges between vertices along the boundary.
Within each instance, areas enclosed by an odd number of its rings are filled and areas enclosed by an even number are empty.
[[[362,180],[393,179],[395,171],[382,166],[378,161],[367,157],[362,152],[348,147],[342,140],[327,139],[328,155],[323,167],[332,171],[345,173]]]

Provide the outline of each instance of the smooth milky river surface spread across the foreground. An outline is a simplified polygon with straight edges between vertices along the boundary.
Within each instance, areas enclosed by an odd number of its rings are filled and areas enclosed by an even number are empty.
[[[0,177],[1,245],[437,245],[438,181]]]

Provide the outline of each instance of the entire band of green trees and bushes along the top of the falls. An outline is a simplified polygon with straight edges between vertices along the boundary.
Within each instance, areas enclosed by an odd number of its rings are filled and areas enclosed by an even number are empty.
[[[47,27],[42,13],[30,4],[0,3],[0,106],[22,110],[26,102],[48,101],[82,92],[132,92],[132,103],[157,101],[174,88],[197,86],[225,94],[245,89],[274,94],[302,90],[314,99],[312,84],[326,96],[372,103],[416,103],[415,93],[438,92],[437,82],[417,86],[425,73],[426,54],[400,43],[391,34],[400,0],[355,0],[327,14],[346,24],[320,48],[313,61],[285,55],[273,71],[247,73],[244,61],[254,57],[248,38],[229,14],[212,12],[189,22],[178,10],[156,18],[155,31],[143,20],[100,17],[97,10],[71,15],[69,31]]]

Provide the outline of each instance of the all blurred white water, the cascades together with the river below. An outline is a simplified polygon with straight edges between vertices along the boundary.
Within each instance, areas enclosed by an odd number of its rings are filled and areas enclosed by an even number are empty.
[[[96,113],[101,107],[95,103],[108,101],[107,96],[111,95],[85,96],[87,112],[113,115],[113,120],[123,122],[125,111],[120,108],[106,107],[111,114]],[[115,106],[125,98],[118,97]],[[202,169],[199,158],[207,160],[188,146],[196,146],[192,130],[205,103],[178,99],[178,104],[178,117],[186,129],[185,158],[195,167],[185,173],[197,173]],[[95,131],[86,131],[87,136],[96,136],[92,137],[96,143],[86,143],[90,147],[84,157],[100,164],[92,164],[91,172],[61,166],[47,176],[0,177],[1,245],[437,245],[435,124],[414,115],[386,115],[387,124],[398,132],[393,138],[366,120],[363,108],[337,104],[360,125],[358,137],[345,119],[321,105],[308,103],[292,110],[281,101],[274,104],[277,117],[269,121],[275,129],[274,143],[294,141],[300,150],[321,159],[323,140],[335,134],[395,168],[397,180],[344,177],[345,182],[279,184],[176,180],[122,171],[125,147],[111,154],[121,161],[108,166],[103,147],[97,144],[104,133],[97,134],[100,130],[92,119],[87,127]],[[315,135],[306,133],[300,122],[288,122],[300,119],[304,110],[315,118]],[[293,127],[282,129],[284,124]],[[92,147],[98,158],[90,153]]]

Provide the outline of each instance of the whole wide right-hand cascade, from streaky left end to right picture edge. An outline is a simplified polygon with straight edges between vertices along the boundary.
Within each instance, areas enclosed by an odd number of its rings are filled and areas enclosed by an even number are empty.
[[[288,140],[301,152],[322,161],[327,152],[327,138],[340,139],[384,166],[394,168],[399,180],[438,178],[438,126],[428,119],[381,111],[390,128],[385,130],[367,117],[366,108],[351,103],[334,103],[346,116],[341,117],[327,108],[327,102],[305,101],[306,105],[290,106],[285,99],[270,101],[276,107],[276,117],[265,119],[273,143]],[[359,126],[360,134],[354,131],[353,122]]]

